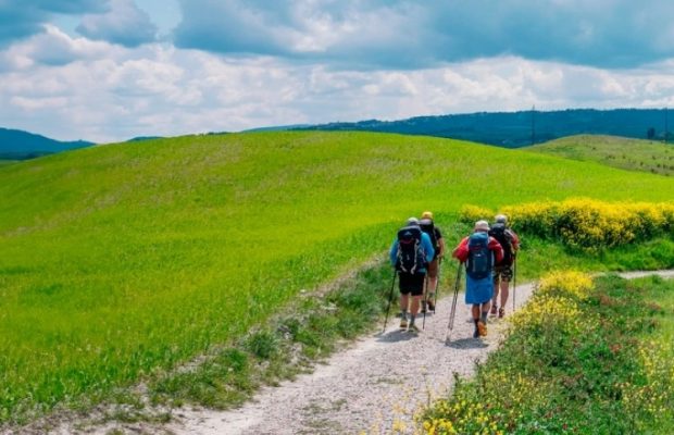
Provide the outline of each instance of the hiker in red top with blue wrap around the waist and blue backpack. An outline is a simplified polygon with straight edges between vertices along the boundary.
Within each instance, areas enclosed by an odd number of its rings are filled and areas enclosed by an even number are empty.
[[[494,294],[491,271],[503,258],[503,248],[489,236],[489,223],[477,221],[473,234],[464,237],[452,251],[465,266],[465,303],[471,304],[475,332],[473,337],[487,335],[487,315]]]

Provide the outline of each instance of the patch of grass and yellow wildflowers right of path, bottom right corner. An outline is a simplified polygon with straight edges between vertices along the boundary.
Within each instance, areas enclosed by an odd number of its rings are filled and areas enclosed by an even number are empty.
[[[544,279],[503,346],[420,421],[428,434],[642,433],[672,418],[672,345],[649,286]],[[645,336],[651,339],[644,340]],[[660,432],[666,433],[666,432]]]

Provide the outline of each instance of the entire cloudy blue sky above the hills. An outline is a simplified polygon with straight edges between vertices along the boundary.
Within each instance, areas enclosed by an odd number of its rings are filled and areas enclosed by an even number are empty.
[[[125,140],[674,101],[669,0],[0,0],[0,126]]]

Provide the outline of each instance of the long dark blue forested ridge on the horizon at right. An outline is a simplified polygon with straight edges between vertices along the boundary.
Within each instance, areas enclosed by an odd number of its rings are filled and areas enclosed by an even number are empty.
[[[550,112],[534,110],[417,116],[401,121],[338,122],[295,129],[400,133],[519,148],[579,134],[662,140],[665,136],[666,117],[664,109],[570,109]],[[669,136],[672,138],[671,132]]]

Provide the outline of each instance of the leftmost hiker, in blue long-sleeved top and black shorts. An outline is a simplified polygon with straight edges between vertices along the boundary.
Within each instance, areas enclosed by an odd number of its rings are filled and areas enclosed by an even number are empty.
[[[401,328],[408,327],[409,307],[409,331],[419,332],[414,320],[424,291],[426,264],[433,260],[434,254],[430,237],[421,231],[416,217],[410,217],[405,226],[398,231],[390,249],[390,260],[399,276]]]

